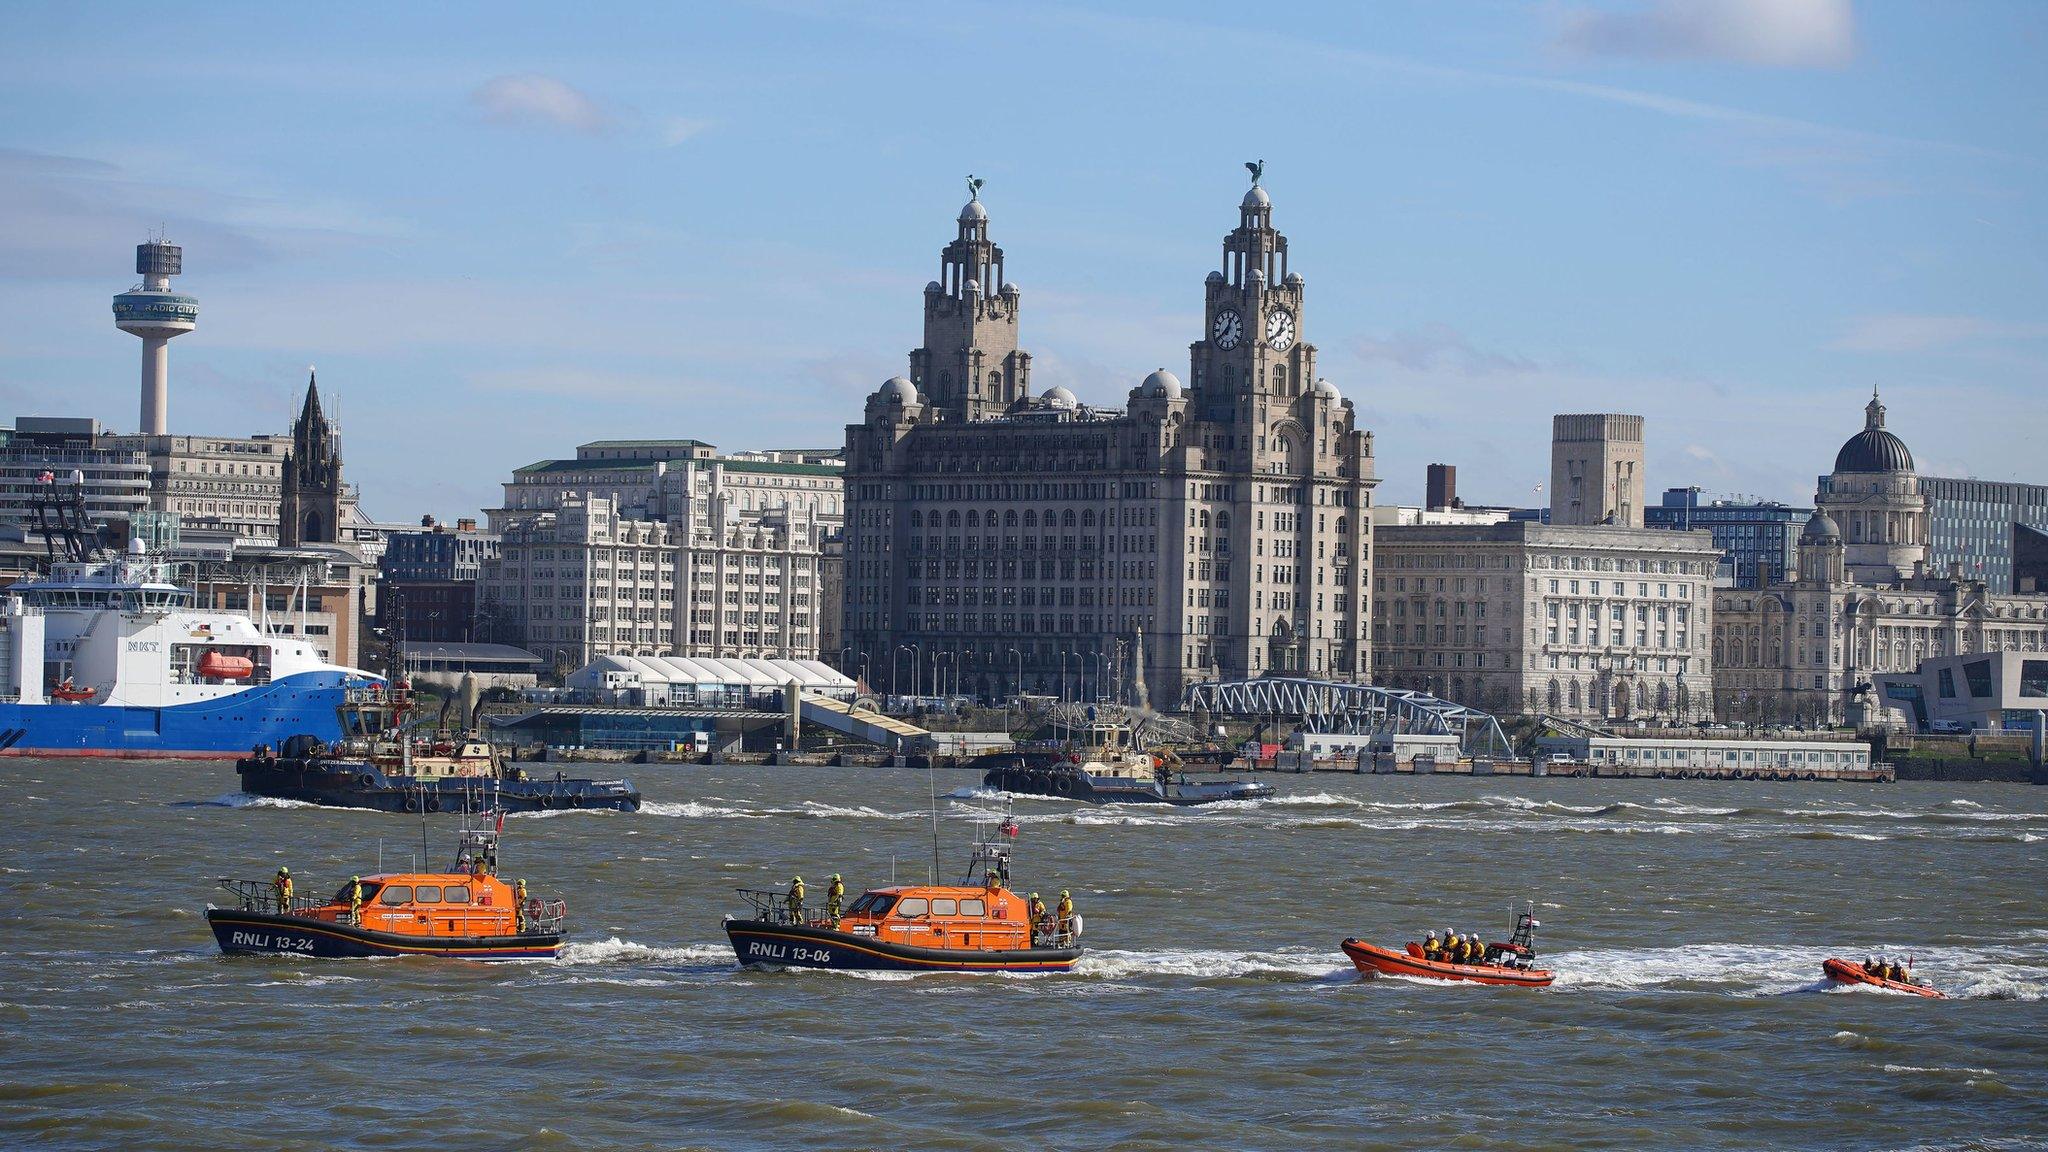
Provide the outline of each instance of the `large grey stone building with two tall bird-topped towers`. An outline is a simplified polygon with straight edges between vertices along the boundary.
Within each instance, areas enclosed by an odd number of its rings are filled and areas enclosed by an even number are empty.
[[[1366,678],[1372,435],[1315,375],[1307,291],[1253,187],[1188,383],[1030,392],[979,195],[924,346],[846,428],[846,648],[881,689],[1171,705],[1192,681]],[[915,678],[913,678],[915,670]]]

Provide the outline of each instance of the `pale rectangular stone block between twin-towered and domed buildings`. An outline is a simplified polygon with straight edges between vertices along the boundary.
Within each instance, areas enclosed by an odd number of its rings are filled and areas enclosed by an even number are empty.
[[[1712,715],[1704,531],[1380,525],[1374,683],[1493,713]]]

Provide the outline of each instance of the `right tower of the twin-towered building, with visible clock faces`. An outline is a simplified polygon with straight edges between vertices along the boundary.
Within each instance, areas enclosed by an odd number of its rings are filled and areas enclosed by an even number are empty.
[[[1262,400],[1286,406],[1315,381],[1315,346],[1303,342],[1303,279],[1286,266],[1272,197],[1253,166],[1223,238],[1223,269],[1208,273],[1204,338],[1190,346],[1194,414],[1210,422],[1264,422]]]

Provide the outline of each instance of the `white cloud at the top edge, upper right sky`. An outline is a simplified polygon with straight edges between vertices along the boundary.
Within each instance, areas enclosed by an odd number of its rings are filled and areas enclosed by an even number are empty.
[[[1655,0],[1575,10],[1556,45],[1573,55],[1839,68],[1855,55],[1855,12],[1849,0]]]

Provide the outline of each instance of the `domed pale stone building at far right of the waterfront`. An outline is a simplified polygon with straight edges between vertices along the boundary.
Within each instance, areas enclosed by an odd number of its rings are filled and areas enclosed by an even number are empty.
[[[2048,650],[2048,594],[1999,594],[1960,562],[1927,564],[1929,500],[1872,396],[1864,430],[1819,480],[1798,572],[1714,607],[1722,719],[1841,724],[1870,715],[1874,674],[1972,652]]]

